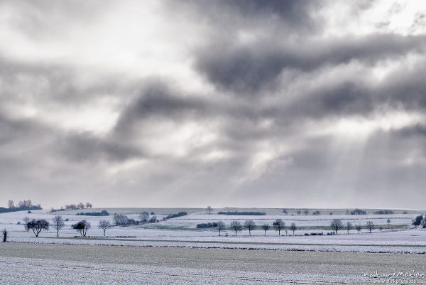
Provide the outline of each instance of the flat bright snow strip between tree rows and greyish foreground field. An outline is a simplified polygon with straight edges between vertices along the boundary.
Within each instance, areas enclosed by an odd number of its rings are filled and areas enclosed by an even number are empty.
[[[425,239],[425,232],[422,232]],[[380,235],[380,234],[378,234]],[[285,239],[265,242],[249,239],[213,240],[130,240],[130,239],[70,239],[45,237],[11,237],[11,242],[35,244],[86,244],[133,247],[191,247],[191,248],[221,248],[221,249],[269,249],[296,250],[316,252],[388,252],[426,254],[425,242],[403,242],[402,240],[314,240],[314,239]]]

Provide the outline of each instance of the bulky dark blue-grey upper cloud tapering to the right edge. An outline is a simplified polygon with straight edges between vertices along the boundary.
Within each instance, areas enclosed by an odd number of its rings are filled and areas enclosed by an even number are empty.
[[[197,55],[197,69],[218,87],[241,96],[259,92],[278,79],[283,70],[312,72],[318,68],[357,60],[374,65],[408,53],[422,53],[425,36],[374,34],[361,38],[303,38],[297,43],[261,38],[256,43],[212,43]]]

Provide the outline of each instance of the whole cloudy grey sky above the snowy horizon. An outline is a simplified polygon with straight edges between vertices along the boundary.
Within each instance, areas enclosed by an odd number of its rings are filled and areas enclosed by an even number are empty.
[[[0,1],[0,206],[425,208],[426,1]]]

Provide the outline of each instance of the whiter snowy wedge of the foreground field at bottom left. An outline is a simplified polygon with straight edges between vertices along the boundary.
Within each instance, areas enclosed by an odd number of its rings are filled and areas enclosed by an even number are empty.
[[[99,264],[45,259],[0,257],[4,284],[324,284],[327,274],[268,274],[258,271],[223,269],[192,269],[185,267],[143,266],[133,264]],[[46,278],[41,270],[52,271]],[[31,282],[28,276],[32,276]],[[346,283],[347,276],[332,276],[333,282]],[[351,276],[351,283],[366,281],[362,276]]]

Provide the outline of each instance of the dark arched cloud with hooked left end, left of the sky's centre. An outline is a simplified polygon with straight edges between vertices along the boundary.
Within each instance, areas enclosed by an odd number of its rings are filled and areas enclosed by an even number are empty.
[[[114,128],[118,134],[132,131],[138,122],[155,119],[170,119],[173,122],[188,120],[209,121],[223,119],[226,125],[256,124],[264,117],[264,108],[233,97],[218,98],[190,94],[168,86],[168,82],[149,79],[141,82],[138,95],[129,102],[120,114]],[[244,121],[241,121],[244,120]],[[249,130],[249,127],[230,127],[235,131]]]

